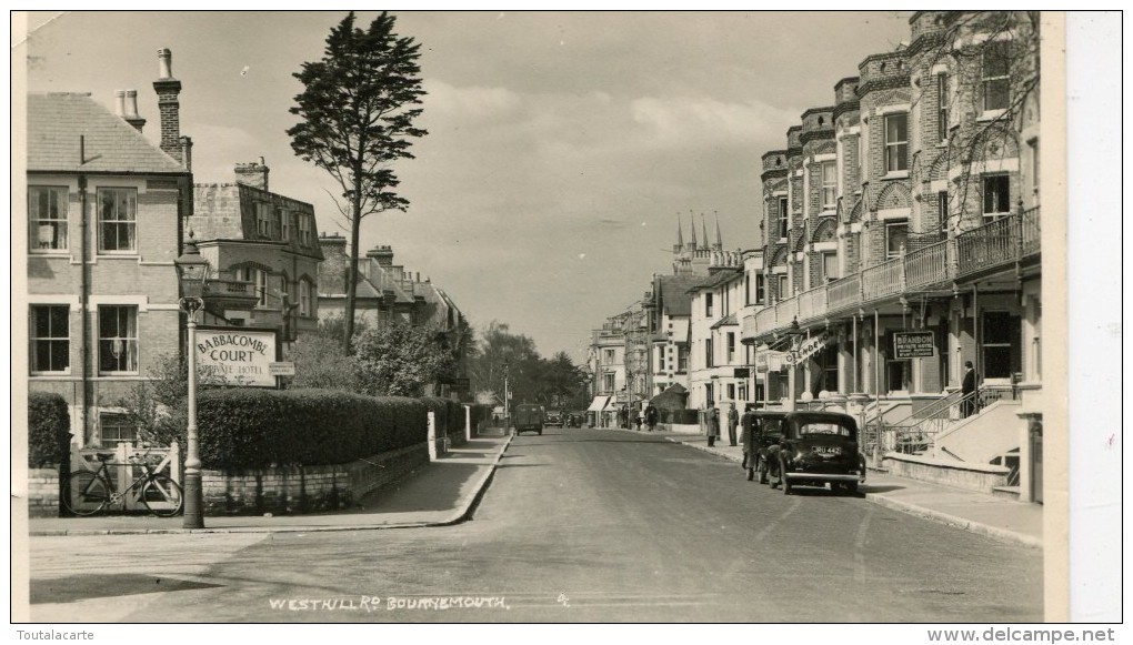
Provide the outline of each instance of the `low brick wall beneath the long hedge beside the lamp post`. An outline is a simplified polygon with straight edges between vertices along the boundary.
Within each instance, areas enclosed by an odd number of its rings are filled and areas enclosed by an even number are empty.
[[[428,464],[417,444],[349,464],[202,473],[206,515],[316,513],[355,504]]]

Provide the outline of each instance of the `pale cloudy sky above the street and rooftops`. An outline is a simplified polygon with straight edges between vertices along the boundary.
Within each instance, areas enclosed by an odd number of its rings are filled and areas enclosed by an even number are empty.
[[[28,89],[137,89],[156,141],[157,50],[181,80],[197,182],[263,156],[274,192],[346,233],[335,184],[286,130],[344,12],[32,14]],[[375,12],[359,12],[368,25]],[[909,12],[395,12],[420,44],[428,130],[395,165],[406,213],[364,220],[361,248],[429,277],[474,328],[493,320],[540,354],[586,355],[590,330],[671,273],[718,216],[725,249],[752,248],[759,157],[800,114],[833,103],[867,55],[909,40]],[[18,51],[18,50],[17,50]]]

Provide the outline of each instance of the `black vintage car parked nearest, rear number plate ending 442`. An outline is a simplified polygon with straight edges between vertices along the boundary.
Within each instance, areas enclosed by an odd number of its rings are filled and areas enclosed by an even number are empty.
[[[866,457],[859,452],[853,416],[789,412],[780,428],[778,442],[767,447],[763,462],[772,488],[782,487],[791,494],[796,485],[829,483],[830,490],[857,492],[858,484],[866,481]]]

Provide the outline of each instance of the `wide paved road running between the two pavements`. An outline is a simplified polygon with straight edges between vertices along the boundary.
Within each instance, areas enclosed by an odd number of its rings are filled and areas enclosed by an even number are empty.
[[[656,436],[548,429],[512,442],[457,526],[35,538],[32,617],[1041,620],[1040,551],[800,490]]]

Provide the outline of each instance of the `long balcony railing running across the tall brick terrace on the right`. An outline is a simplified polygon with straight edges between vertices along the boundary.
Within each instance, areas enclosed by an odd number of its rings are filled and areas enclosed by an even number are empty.
[[[742,338],[756,338],[800,322],[902,295],[910,290],[943,287],[968,276],[1002,270],[1041,251],[1039,207],[1000,217],[859,273],[781,300],[749,308]]]

